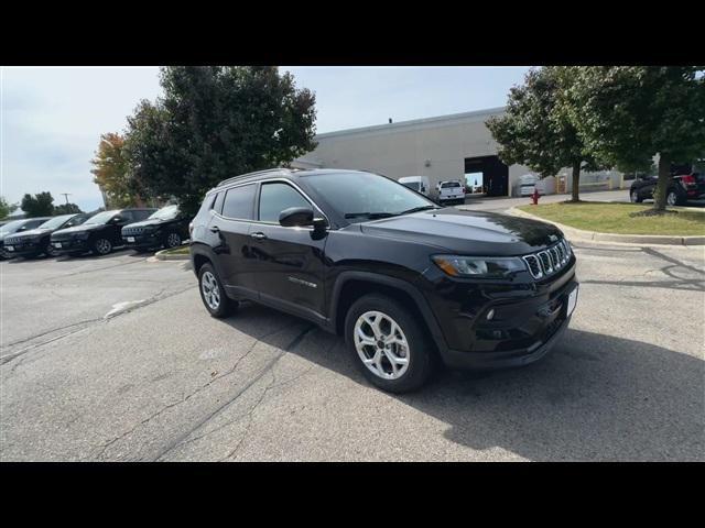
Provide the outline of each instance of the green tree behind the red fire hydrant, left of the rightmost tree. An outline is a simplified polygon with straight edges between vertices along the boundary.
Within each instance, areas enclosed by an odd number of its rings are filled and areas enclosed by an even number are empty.
[[[572,201],[579,201],[581,169],[604,167],[587,151],[568,119],[565,99],[573,79],[571,69],[562,66],[529,70],[524,84],[510,89],[507,111],[490,118],[487,127],[499,143],[499,157],[507,165],[527,165],[541,177],[571,167]]]

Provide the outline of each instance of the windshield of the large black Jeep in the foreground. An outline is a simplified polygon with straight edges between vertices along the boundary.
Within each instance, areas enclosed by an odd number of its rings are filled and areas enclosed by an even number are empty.
[[[403,185],[371,173],[332,173],[306,177],[306,184],[350,221],[435,208]]]

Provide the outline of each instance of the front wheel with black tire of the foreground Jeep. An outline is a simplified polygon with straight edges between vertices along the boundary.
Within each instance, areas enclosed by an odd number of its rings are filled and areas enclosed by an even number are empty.
[[[362,375],[382,391],[415,391],[433,372],[423,324],[389,297],[371,294],[355,301],[345,318],[345,341]]]

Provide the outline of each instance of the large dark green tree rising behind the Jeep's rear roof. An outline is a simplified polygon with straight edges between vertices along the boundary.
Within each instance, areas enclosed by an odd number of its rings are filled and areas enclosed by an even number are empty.
[[[164,90],[128,118],[130,177],[195,210],[218,182],[315,147],[315,97],[276,67],[165,67]]]

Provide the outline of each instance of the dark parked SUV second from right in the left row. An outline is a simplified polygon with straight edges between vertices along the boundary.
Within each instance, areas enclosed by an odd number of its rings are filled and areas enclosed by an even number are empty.
[[[52,233],[52,245],[57,255],[80,255],[88,251],[107,255],[122,245],[120,230],[128,223],[147,219],[156,209],[116,209],[94,215],[80,226]]]

